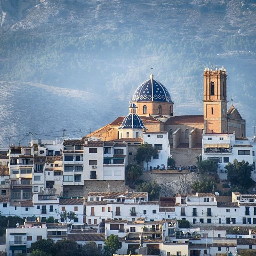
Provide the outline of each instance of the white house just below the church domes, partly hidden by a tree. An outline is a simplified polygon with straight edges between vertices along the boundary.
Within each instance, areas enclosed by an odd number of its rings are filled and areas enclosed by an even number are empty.
[[[168,138],[168,132],[144,132],[143,143],[152,144],[157,149],[157,154],[151,157],[148,163],[148,171],[150,166],[152,169],[156,169],[159,166],[160,169],[167,169],[167,161],[170,156],[170,144]],[[147,170],[147,163],[143,163],[144,171]]]

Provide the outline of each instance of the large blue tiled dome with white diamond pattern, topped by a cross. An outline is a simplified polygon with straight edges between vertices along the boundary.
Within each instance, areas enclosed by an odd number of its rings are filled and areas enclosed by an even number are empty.
[[[172,102],[168,90],[157,80],[152,78],[143,82],[134,92],[132,101],[162,101]]]

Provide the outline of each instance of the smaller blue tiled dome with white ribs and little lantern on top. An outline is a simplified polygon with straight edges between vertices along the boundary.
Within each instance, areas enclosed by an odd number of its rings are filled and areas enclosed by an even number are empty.
[[[137,106],[130,102],[129,105],[129,114],[124,118],[121,126],[118,129],[147,129],[141,118],[136,114]]]

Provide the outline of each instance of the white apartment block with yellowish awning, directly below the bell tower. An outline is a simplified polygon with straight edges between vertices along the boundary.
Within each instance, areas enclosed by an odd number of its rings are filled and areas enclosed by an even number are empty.
[[[214,160],[219,164],[218,174],[221,179],[227,178],[225,166],[234,159],[253,164],[253,146],[246,137],[236,138],[233,133],[205,133],[202,136],[202,160]],[[256,175],[252,175],[256,180]]]

